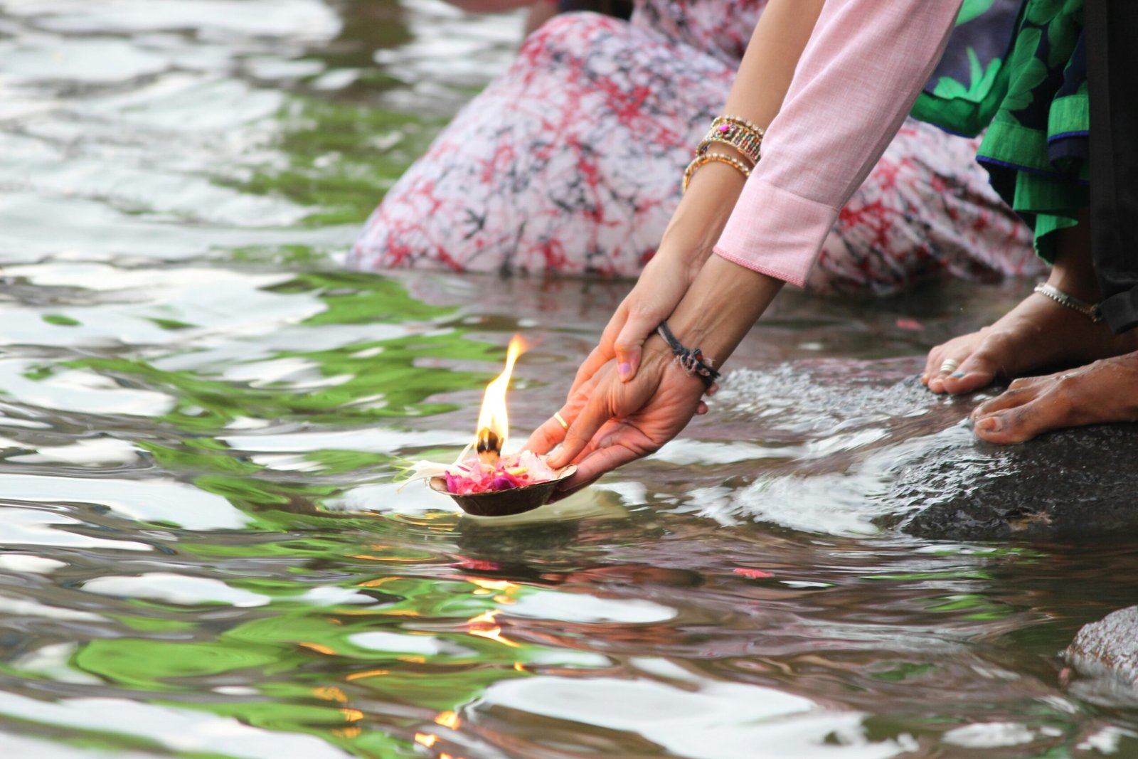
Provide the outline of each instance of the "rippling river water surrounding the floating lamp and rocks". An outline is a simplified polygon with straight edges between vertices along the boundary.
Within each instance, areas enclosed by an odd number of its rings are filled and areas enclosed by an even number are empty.
[[[545,419],[627,287],[338,266],[519,32],[0,0],[0,756],[1138,756],[1058,657],[1138,545],[921,541],[884,495],[970,434],[921,353],[1030,283],[786,294],[683,439],[522,519],[390,484],[516,331]]]

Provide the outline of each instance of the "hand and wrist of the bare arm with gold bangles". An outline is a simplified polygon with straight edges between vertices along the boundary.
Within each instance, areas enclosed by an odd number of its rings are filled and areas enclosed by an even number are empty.
[[[641,354],[655,328],[671,315],[699,273],[704,256],[678,248],[663,249],[644,266],[636,286],[620,302],[601,335],[601,341],[577,370],[571,398],[604,364],[615,361],[624,382],[636,377]]]

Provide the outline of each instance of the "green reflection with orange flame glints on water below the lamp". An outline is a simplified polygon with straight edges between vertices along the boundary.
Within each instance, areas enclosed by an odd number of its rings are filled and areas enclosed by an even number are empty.
[[[314,547],[315,554],[327,554],[327,544],[318,541]],[[420,566],[417,556],[402,559]],[[232,585],[286,596],[253,611],[254,619],[244,613],[244,621],[221,633],[212,632],[216,621],[184,630],[196,640],[89,641],[72,657],[72,667],[148,702],[318,735],[357,756],[397,757],[412,756],[405,753],[411,741],[396,735],[390,719],[378,729],[369,728],[370,720],[387,711],[403,715],[395,721],[406,723],[410,737],[439,712],[478,699],[493,683],[526,677],[531,662],[563,659],[579,666],[571,652],[512,641],[498,632],[487,612],[533,592],[523,586],[495,587],[492,596],[465,579],[386,576],[344,587],[381,587],[387,603],[320,607],[300,601],[303,586],[297,584]],[[130,604],[147,616],[185,612],[151,602]],[[256,695],[199,698],[237,684]],[[163,700],[163,694],[196,695],[181,701]]]

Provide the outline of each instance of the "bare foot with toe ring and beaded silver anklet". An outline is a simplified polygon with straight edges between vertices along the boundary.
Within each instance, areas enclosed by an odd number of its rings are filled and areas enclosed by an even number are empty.
[[[1021,377],[1055,364],[1086,364],[1135,349],[1135,336],[1116,336],[1105,322],[1092,322],[1033,292],[991,327],[930,350],[921,381],[933,393],[972,393],[997,377]],[[949,358],[959,365],[942,372]]]

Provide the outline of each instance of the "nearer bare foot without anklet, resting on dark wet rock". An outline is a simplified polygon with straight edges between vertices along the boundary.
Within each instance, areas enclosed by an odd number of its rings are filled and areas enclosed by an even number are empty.
[[[1023,443],[1044,432],[1103,422],[1138,421],[1138,352],[1088,366],[1017,379],[972,412],[976,437]]]

